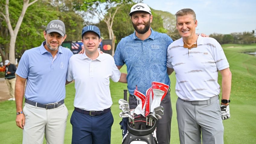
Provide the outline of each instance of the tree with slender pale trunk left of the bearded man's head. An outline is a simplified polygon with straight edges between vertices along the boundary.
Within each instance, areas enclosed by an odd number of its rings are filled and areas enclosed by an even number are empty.
[[[117,11],[132,0],[83,0],[74,6],[79,11],[87,11],[92,16],[97,16],[99,21],[104,21],[108,30],[108,38],[112,40],[112,56],[114,56],[115,39],[113,24]]]

